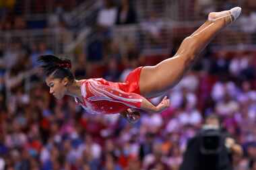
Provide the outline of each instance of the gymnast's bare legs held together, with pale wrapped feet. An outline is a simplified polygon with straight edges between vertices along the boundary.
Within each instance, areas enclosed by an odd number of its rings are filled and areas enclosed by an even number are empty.
[[[191,68],[201,50],[240,13],[240,7],[234,7],[229,11],[210,13],[207,21],[191,36],[183,40],[179,50],[172,58],[163,60],[152,67],[143,67],[139,79],[141,95],[156,97],[176,85],[186,71]]]

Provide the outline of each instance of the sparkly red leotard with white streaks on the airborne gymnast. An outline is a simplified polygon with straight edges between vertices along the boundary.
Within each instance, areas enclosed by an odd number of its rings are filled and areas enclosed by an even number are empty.
[[[119,114],[128,108],[140,108],[139,75],[142,67],[132,71],[125,83],[105,79],[86,79],[82,82],[83,101],[75,101],[92,114]]]

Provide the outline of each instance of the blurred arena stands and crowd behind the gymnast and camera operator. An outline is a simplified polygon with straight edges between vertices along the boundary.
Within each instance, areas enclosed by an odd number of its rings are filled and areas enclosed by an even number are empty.
[[[55,100],[37,69],[38,55],[57,54],[77,79],[124,81],[171,57],[207,13],[237,5],[243,15],[166,94],[170,108],[137,124]],[[255,42],[255,0],[0,0],[0,169],[177,170],[214,113],[243,146],[234,169],[255,170]]]

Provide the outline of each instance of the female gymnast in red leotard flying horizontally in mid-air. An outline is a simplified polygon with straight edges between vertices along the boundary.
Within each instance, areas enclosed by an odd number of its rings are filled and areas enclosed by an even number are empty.
[[[162,95],[176,85],[201,50],[220,30],[234,22],[240,13],[241,7],[210,13],[207,21],[183,40],[172,58],[155,66],[138,67],[131,71],[124,83],[102,78],[76,80],[70,71],[70,60],[61,60],[54,55],[43,55],[38,60],[42,62],[50,93],[57,99],[70,95],[89,113],[120,113],[129,122],[134,122],[139,118],[139,113],[133,112],[132,108],[147,112],[161,112],[168,108],[170,101],[167,97],[156,106],[148,99]]]

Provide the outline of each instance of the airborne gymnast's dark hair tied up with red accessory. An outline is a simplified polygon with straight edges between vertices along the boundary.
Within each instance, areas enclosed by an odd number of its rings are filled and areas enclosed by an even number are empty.
[[[69,81],[74,81],[75,77],[71,73],[71,61],[68,59],[61,59],[52,54],[46,54],[38,57],[38,62],[41,62],[44,75],[49,77],[53,75],[56,79],[64,79],[67,77]]]

